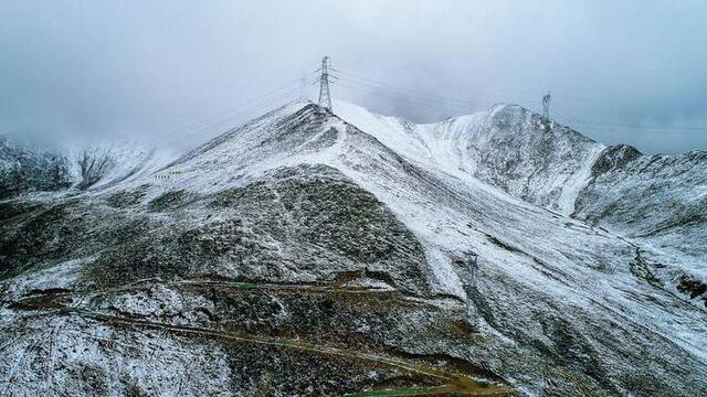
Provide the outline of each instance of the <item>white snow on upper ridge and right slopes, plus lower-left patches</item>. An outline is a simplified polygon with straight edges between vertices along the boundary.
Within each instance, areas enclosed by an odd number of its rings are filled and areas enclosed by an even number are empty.
[[[655,340],[669,343],[680,354],[707,365],[705,308],[688,302],[674,287],[658,288],[637,277],[632,265],[639,261],[637,248],[672,268],[684,266],[684,253],[569,216],[581,210],[576,207],[578,197],[595,182],[592,170],[606,147],[561,126],[546,127],[542,124],[547,120],[511,105],[429,125],[376,115],[341,101],[334,108],[333,115],[309,103],[289,104],[167,167],[162,167],[163,159],[149,152],[128,150],[126,155],[133,160],[122,161],[124,165],[110,171],[96,187],[129,191],[149,186],[144,198],[149,201],[173,191],[215,194],[267,180],[285,167],[335,168],[371,192],[413,232],[424,247],[426,275],[436,291],[467,301],[469,314],[477,316],[489,334],[499,335],[503,342],[498,343],[523,343],[506,337],[508,329],[520,330],[528,337],[545,337],[549,325],[538,321],[542,315],[562,319],[581,330],[598,355],[616,365],[622,356],[613,337],[620,334],[644,344]],[[704,189],[701,192],[707,194]],[[705,256],[696,255],[697,260],[690,264],[698,267],[695,264],[701,260],[704,267]],[[469,258],[474,258],[473,266]],[[494,321],[481,304],[469,301],[460,261],[473,268],[474,288],[496,311]],[[27,275],[18,282],[25,289],[46,288],[51,276],[54,288],[63,288],[73,280],[74,265]],[[170,291],[157,292],[181,304]],[[160,310],[159,304],[135,297],[120,299],[123,309],[131,313]],[[603,333],[604,328],[610,331]],[[99,337],[109,331],[93,332]],[[170,354],[176,355],[183,348],[171,347],[175,352]],[[21,347],[17,350],[20,354]],[[91,354],[98,361],[108,360],[97,352]],[[135,376],[143,378],[148,373],[141,372],[151,368],[146,366],[157,366],[161,358],[143,363],[110,360],[107,365],[130,366]],[[183,365],[215,371],[203,361]],[[159,376],[169,379],[171,375]],[[148,389],[154,383],[144,382]],[[204,393],[211,386],[204,384]]]

